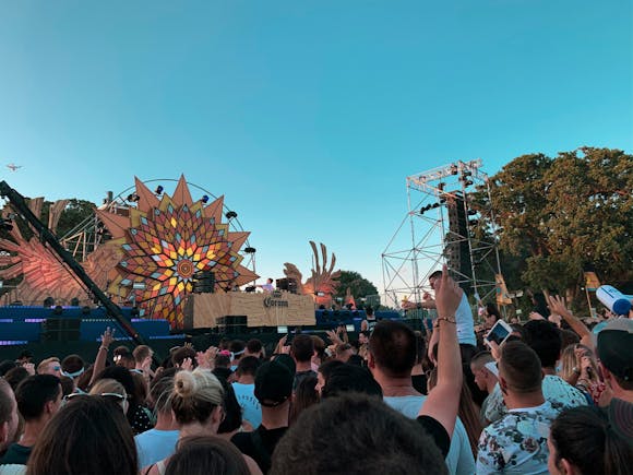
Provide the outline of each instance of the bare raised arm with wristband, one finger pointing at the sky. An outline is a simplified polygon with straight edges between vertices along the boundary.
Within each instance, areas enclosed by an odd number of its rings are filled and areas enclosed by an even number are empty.
[[[429,393],[419,415],[439,421],[452,437],[462,393],[462,357],[457,342],[455,311],[462,300],[462,290],[449,276],[444,265],[442,278],[435,281],[435,305],[438,308],[438,383]]]

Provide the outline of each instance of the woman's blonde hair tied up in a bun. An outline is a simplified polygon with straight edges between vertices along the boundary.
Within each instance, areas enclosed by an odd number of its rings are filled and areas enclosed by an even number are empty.
[[[171,409],[179,424],[203,424],[223,402],[224,389],[213,372],[196,368],[174,377]]]

